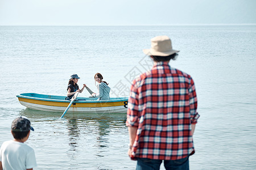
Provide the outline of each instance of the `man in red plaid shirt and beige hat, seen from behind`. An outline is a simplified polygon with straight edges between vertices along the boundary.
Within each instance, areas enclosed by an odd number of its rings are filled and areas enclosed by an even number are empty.
[[[195,153],[193,131],[199,118],[195,84],[190,75],[168,65],[175,59],[167,36],[151,39],[143,50],[154,60],[152,70],[133,81],[126,125],[128,154],[137,169],[189,169],[189,155]]]

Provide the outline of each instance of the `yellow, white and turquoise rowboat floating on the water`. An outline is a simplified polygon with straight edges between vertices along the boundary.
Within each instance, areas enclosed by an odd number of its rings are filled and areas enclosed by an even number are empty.
[[[39,111],[64,112],[70,101],[66,96],[24,93],[16,95],[19,103]],[[110,97],[110,100],[97,100],[96,97],[77,97],[68,112],[80,113],[126,113],[127,97]]]

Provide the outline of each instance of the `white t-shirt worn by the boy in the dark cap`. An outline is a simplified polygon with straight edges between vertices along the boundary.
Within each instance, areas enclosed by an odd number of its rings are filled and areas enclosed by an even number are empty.
[[[30,169],[36,167],[35,151],[22,142],[3,142],[0,150],[3,170]]]

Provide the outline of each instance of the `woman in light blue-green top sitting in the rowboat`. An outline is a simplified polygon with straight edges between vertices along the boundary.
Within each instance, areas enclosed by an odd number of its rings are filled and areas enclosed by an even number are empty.
[[[100,73],[96,73],[94,75],[95,84],[97,84],[98,93],[92,93],[93,97],[98,97],[98,100],[109,100],[109,92],[110,87],[108,86],[108,83],[105,81],[102,81],[103,76]]]

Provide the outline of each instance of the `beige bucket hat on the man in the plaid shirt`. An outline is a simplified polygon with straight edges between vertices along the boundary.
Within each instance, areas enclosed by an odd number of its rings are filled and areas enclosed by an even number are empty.
[[[148,56],[170,56],[180,51],[172,49],[172,42],[168,36],[157,36],[151,39],[151,49],[143,49]]]

